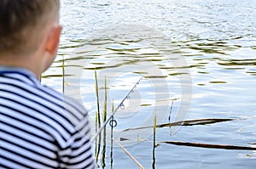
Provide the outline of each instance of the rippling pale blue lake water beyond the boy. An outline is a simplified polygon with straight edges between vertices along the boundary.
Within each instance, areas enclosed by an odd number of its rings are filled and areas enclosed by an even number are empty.
[[[173,100],[172,121],[184,120],[185,117],[186,120],[234,118],[236,121],[182,127],[175,132],[169,127],[160,128],[156,133],[158,141],[247,146],[256,142],[255,6],[255,0],[63,0],[61,25],[64,30],[60,50],[55,63],[44,73],[42,82],[62,91],[64,57],[66,74],[80,73],[69,76],[69,79],[66,77],[65,92],[80,99],[94,118],[95,68],[102,77],[99,80],[102,95],[103,78],[107,76],[110,112],[112,99],[117,106],[137,80],[146,76],[125,101],[125,110],[117,113],[114,138],[153,139],[153,128],[144,132],[120,131],[152,126],[154,111],[163,112],[158,123],[168,122]],[[145,32],[151,32],[151,40]],[[151,45],[142,37],[147,37]],[[73,55],[80,46],[84,48]],[[173,60],[183,56],[187,66],[177,65],[177,69],[173,69],[172,63],[175,62],[166,59],[168,54],[172,54]],[[148,70],[150,66],[155,71]],[[186,115],[178,112],[178,108],[186,107],[184,103],[189,104],[183,100],[181,87],[183,83],[184,88],[189,88],[186,86],[189,81],[182,80],[188,75],[191,76],[192,99]],[[184,93],[189,95],[189,89]],[[112,163],[109,137],[107,142],[105,161],[101,158],[98,161],[101,168],[104,164],[105,168],[137,168],[116,146]],[[152,142],[132,142],[129,146],[125,141],[120,143],[145,168],[153,168]],[[171,144],[160,144],[154,157],[155,168],[255,168],[256,165],[255,151]]]

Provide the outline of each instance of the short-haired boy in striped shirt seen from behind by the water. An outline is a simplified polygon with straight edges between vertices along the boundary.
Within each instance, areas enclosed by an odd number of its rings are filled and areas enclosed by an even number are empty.
[[[86,110],[38,81],[55,59],[59,10],[0,1],[0,168],[95,168]]]

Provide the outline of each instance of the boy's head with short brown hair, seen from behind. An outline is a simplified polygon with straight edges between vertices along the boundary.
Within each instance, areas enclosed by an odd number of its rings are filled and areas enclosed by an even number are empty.
[[[55,55],[59,10],[60,0],[0,0],[0,64],[5,56]]]

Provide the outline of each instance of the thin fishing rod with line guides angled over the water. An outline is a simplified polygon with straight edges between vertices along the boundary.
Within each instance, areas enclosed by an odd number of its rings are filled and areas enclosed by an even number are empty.
[[[116,121],[113,120],[113,115],[116,114],[116,112],[119,110],[119,108],[121,109],[124,109],[125,108],[125,105],[124,105],[124,102],[125,102],[125,99],[129,99],[129,96],[130,94],[134,91],[134,89],[137,87],[137,85],[139,84],[139,82],[141,82],[143,79],[143,76],[136,82],[136,84],[131,88],[131,90],[125,95],[125,98],[122,99],[122,101],[120,102],[120,104],[117,106],[117,108],[113,111],[113,114],[110,115],[110,117],[108,117],[108,120],[105,121],[103,124],[102,124],[102,127],[99,128],[99,130],[96,132],[96,134],[93,136],[93,138],[90,139],[90,141],[95,141],[96,138],[100,135],[100,133],[102,132],[103,128],[106,127],[106,125],[109,124],[111,126],[114,126],[116,127],[117,126],[117,123]],[[111,121],[112,120],[112,121]],[[115,125],[113,125],[113,123],[115,123]]]

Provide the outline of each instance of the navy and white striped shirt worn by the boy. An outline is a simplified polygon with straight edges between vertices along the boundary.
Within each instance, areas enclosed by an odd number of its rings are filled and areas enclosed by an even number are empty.
[[[32,72],[0,67],[0,168],[95,168],[88,118]]]

